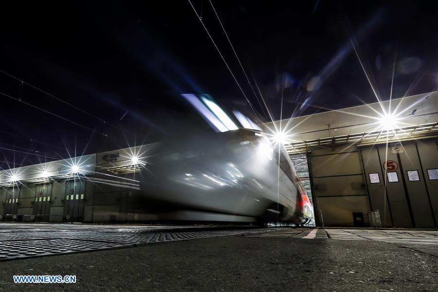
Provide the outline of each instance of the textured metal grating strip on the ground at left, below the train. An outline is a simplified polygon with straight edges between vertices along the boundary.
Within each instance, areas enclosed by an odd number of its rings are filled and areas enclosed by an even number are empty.
[[[174,230],[174,229],[168,229]],[[184,230],[184,229],[183,229]],[[268,229],[263,229],[268,230]],[[50,256],[58,254],[80,253],[102,249],[128,248],[153,242],[186,240],[205,237],[230,236],[254,231],[206,230],[181,232],[151,232],[144,230],[98,231],[41,231],[4,232],[0,238],[0,261]],[[260,232],[260,229],[257,229]],[[36,238],[37,237],[37,238]],[[8,238],[5,240],[4,238]]]

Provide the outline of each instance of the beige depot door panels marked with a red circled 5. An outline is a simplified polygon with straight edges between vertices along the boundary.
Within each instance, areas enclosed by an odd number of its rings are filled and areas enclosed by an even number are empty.
[[[437,146],[432,138],[388,148],[343,145],[312,150],[308,157],[319,225],[367,226],[367,213],[379,210],[384,227],[436,228]],[[392,161],[394,169],[385,171],[386,161]],[[394,181],[389,182],[388,172]],[[363,220],[355,222],[353,213],[362,213]]]

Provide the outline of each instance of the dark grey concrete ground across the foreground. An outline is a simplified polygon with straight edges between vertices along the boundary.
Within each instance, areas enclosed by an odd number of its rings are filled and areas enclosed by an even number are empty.
[[[385,232],[277,229],[3,261],[0,291],[438,291],[438,232]]]

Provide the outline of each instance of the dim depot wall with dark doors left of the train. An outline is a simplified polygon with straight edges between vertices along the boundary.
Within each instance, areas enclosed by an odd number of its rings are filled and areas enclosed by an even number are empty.
[[[11,199],[12,193],[17,197]],[[0,189],[0,216],[20,222],[135,222],[148,219],[139,198],[137,190],[79,179],[18,185]]]

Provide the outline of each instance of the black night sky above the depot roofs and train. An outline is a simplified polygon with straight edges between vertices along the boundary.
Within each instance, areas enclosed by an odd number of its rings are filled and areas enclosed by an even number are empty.
[[[180,93],[250,112],[188,1],[14,2],[0,7],[2,168],[153,141]],[[438,82],[436,1],[213,1],[257,97],[210,2],[192,3],[260,121],[256,83],[274,119],[282,94],[283,117],[375,102],[351,42],[383,100],[394,60],[394,97]]]

